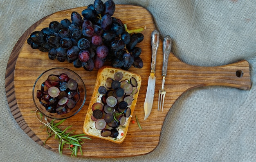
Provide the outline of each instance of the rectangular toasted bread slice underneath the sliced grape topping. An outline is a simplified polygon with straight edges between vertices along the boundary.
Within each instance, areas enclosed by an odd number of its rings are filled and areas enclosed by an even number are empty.
[[[112,137],[103,137],[101,136],[101,130],[98,130],[95,128],[95,121],[93,121],[91,119],[92,116],[92,105],[96,102],[101,102],[99,96],[101,96],[101,94],[99,94],[98,89],[101,85],[105,86],[106,83],[106,79],[108,78],[112,78],[114,79],[114,74],[115,72],[122,72],[123,73],[123,79],[122,80],[130,80],[131,77],[134,77],[137,80],[138,86],[138,92],[136,94],[133,94],[133,101],[132,104],[129,106],[131,109],[131,115],[129,118],[126,118],[126,123],[121,127],[119,126],[117,129],[120,132],[123,132],[124,135],[123,136],[118,136],[115,140]],[[120,68],[113,68],[111,66],[104,66],[102,68],[100,68],[98,70],[98,74],[97,74],[97,79],[95,82],[95,86],[94,86],[94,91],[92,93],[92,97],[89,103],[89,107],[88,107],[88,111],[86,113],[85,116],[85,121],[83,124],[83,132],[88,135],[88,136],[93,136],[93,137],[97,137],[97,138],[101,138],[101,139],[105,139],[105,140],[109,140],[111,142],[115,142],[115,143],[122,143],[124,141],[124,139],[126,138],[126,134],[128,131],[128,127],[130,124],[130,120],[132,117],[132,114],[135,110],[135,105],[137,103],[137,98],[139,95],[139,89],[141,87],[141,77],[138,74],[135,74],[133,72],[128,72],[126,70],[122,70]],[[124,127],[125,126],[125,127]]]

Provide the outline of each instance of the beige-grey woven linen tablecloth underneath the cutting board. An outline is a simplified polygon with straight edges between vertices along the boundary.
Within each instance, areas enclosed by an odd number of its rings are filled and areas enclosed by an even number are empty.
[[[41,18],[92,2],[0,0],[1,162],[256,161],[256,0],[115,0],[148,9],[161,38],[170,35],[173,53],[186,63],[220,66],[245,59],[250,64],[250,90],[214,86],[184,93],[168,113],[153,152],[129,158],[70,157],[29,138],[7,103],[4,79],[11,51]]]

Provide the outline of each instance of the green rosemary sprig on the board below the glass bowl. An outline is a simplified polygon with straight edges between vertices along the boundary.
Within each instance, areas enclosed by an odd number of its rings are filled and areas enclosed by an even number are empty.
[[[38,114],[40,114],[40,118],[38,118]],[[72,152],[71,156],[72,155],[76,156],[78,153],[78,150],[80,150],[81,155],[83,155],[81,144],[83,144],[84,142],[82,142],[82,140],[83,139],[91,140],[91,139],[88,137],[83,137],[85,136],[85,134],[78,134],[78,135],[71,136],[75,130],[72,130],[70,132],[67,132],[67,130],[70,129],[72,125],[68,126],[63,131],[60,128],[58,128],[58,126],[61,125],[61,123],[63,123],[66,119],[63,119],[58,123],[54,123],[55,120],[51,120],[51,122],[48,122],[47,118],[44,117],[46,122],[45,123],[43,122],[43,114],[39,112],[36,112],[36,118],[45,125],[47,134],[49,135],[46,138],[44,144],[51,136],[54,136],[55,139],[59,141],[58,152],[60,154],[62,154],[63,152],[64,145],[68,144],[69,147],[67,149],[70,149],[70,151]]]

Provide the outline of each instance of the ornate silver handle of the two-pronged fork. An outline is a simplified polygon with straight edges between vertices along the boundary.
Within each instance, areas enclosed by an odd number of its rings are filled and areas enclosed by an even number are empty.
[[[167,73],[167,64],[168,64],[168,58],[171,53],[171,37],[167,35],[164,37],[164,43],[163,43],[163,53],[164,53],[164,59],[163,59],[163,67],[162,67],[162,76],[166,76]]]

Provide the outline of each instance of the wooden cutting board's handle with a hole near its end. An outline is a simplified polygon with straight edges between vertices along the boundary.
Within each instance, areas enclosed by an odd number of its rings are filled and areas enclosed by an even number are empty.
[[[175,81],[171,82],[183,85],[187,90],[209,85],[222,85],[249,90],[252,85],[249,63],[246,60],[213,67],[191,66],[186,63],[177,66],[177,62],[175,64],[176,68],[170,71],[172,73],[170,77]],[[169,67],[172,67],[172,65]]]

